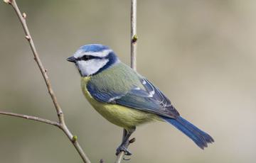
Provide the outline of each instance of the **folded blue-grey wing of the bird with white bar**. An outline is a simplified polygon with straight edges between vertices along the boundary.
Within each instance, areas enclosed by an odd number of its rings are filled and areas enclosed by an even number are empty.
[[[97,87],[88,82],[87,90],[97,101],[105,103],[116,103],[129,108],[136,108],[141,111],[156,113],[169,118],[179,116],[176,108],[171,105],[171,101],[164,94],[151,84],[147,79],[140,79],[143,89],[134,86],[127,92],[117,93],[110,88],[99,90]]]

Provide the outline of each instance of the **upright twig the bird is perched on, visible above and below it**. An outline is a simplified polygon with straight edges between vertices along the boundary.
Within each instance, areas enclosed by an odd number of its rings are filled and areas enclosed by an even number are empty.
[[[137,69],[137,0],[131,0],[131,67],[136,71]],[[126,133],[125,129],[123,133]],[[123,134],[123,138],[124,138]],[[132,139],[134,142],[135,139]],[[130,143],[129,141],[127,143],[127,147],[129,146]],[[117,155],[117,159],[115,160],[115,163],[120,163],[122,162],[122,159],[124,159],[124,152],[119,152]]]

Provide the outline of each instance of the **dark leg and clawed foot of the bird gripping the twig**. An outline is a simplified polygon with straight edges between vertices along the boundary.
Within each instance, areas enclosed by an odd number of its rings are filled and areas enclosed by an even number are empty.
[[[119,147],[117,147],[117,152],[116,155],[119,154],[119,152],[124,151],[125,155],[132,155],[131,152],[129,152],[129,150],[127,150],[127,146],[129,143],[129,137],[132,135],[132,133],[135,131],[135,128],[132,130],[125,130],[124,129],[124,133],[123,133],[123,137],[122,137],[122,143],[121,145],[119,145]]]

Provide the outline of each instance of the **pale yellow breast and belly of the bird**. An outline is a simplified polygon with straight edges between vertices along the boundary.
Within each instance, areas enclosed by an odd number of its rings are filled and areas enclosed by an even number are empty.
[[[159,116],[156,116],[153,113],[139,111],[134,108],[128,108],[112,103],[102,103],[93,99],[90,92],[87,91],[87,82],[89,80],[90,77],[82,77],[82,93],[85,95],[86,99],[90,102],[93,108],[95,108],[98,113],[100,113],[111,123],[129,130],[142,123],[147,123],[152,120],[160,120]]]

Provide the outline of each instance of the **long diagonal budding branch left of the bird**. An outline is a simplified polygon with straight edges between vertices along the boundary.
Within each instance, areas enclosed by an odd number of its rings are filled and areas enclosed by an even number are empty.
[[[36,63],[38,64],[38,67],[41,71],[41,74],[43,75],[43,79],[46,82],[46,86],[48,89],[48,93],[50,94],[50,98],[52,99],[54,106],[55,106],[55,110],[57,112],[58,115],[58,120],[59,120],[59,128],[61,130],[63,130],[63,132],[65,133],[65,135],[68,136],[70,142],[73,143],[75,149],[78,151],[78,153],[80,154],[80,157],[82,158],[83,162],[85,163],[90,163],[90,159],[86,156],[85,152],[82,150],[82,148],[80,147],[77,137],[73,136],[72,133],[70,133],[70,130],[68,129],[67,125],[65,125],[65,120],[64,120],[64,115],[63,115],[63,111],[60,108],[60,105],[57,101],[57,98],[53,92],[52,86],[50,85],[50,79],[47,75],[47,70],[43,67],[43,63],[41,62],[38,52],[36,50],[36,47],[33,43],[33,39],[31,37],[31,34],[29,33],[28,30],[28,26],[26,24],[26,13],[21,14],[21,11],[18,9],[18,6],[16,4],[15,0],[4,0],[4,2],[6,2],[6,4],[11,4],[11,6],[14,8],[14,11],[16,12],[18,19],[21,21],[21,25],[23,27],[23,30],[25,32],[25,38],[28,40],[28,43],[31,47],[31,50],[33,52],[33,57],[34,60],[36,61]],[[11,116],[11,115],[10,115]],[[74,139],[74,137],[76,137]]]

